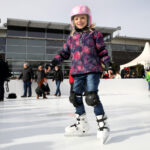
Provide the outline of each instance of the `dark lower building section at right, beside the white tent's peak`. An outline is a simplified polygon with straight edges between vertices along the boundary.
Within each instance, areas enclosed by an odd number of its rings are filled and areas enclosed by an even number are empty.
[[[116,36],[111,41],[112,60],[118,65],[123,65],[139,56],[149,42],[147,38]]]

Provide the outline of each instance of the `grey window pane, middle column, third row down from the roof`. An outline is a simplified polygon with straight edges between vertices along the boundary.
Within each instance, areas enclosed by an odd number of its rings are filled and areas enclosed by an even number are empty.
[[[45,47],[27,47],[27,53],[45,54]]]

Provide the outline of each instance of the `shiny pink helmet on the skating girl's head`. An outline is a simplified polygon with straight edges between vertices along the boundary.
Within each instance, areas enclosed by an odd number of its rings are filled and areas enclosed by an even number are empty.
[[[92,24],[92,16],[91,16],[91,11],[90,11],[90,9],[89,9],[87,6],[85,6],[85,5],[79,5],[79,6],[74,7],[74,8],[71,10],[70,16],[71,16],[71,25],[72,25],[72,27],[74,26],[74,25],[73,25],[73,22],[72,22],[73,16],[75,16],[75,15],[81,15],[81,14],[86,14],[86,15],[88,15],[88,16],[89,16],[88,25],[91,25],[91,24]]]

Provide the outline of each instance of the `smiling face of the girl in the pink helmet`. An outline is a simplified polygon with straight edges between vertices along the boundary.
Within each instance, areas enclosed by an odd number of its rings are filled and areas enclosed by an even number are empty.
[[[73,23],[78,29],[82,29],[87,25],[87,15],[76,15],[73,18]]]

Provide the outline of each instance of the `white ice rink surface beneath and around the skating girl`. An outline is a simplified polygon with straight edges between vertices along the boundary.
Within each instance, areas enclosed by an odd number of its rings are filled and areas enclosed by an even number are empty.
[[[18,96],[0,102],[0,150],[150,150],[150,92],[144,80],[101,82],[100,98],[111,129],[105,145],[96,138],[93,108],[86,104],[88,136],[64,136],[65,127],[75,121],[66,85],[61,85],[60,98]]]

